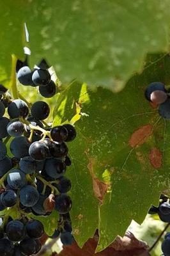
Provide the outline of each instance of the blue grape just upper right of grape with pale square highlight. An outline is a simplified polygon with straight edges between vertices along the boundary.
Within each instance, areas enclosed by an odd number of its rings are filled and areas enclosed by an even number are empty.
[[[20,159],[19,166],[20,170],[26,174],[31,174],[36,171],[36,161],[30,156],[25,156]]]

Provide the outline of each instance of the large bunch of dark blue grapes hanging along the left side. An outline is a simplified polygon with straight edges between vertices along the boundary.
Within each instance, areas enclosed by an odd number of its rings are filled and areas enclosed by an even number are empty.
[[[56,88],[56,84],[44,61],[33,71],[18,61],[17,78],[21,84],[39,86],[44,97],[56,93],[56,89],[50,93],[50,86]],[[0,211],[13,209],[20,216],[17,220],[8,214],[0,218],[1,256],[38,253],[44,230],[33,216],[48,218],[53,211],[59,212],[59,220],[51,238],[60,237],[64,245],[73,243],[72,200],[67,194],[72,183],[65,173],[71,164],[66,143],[75,139],[76,131],[71,124],[49,127],[43,121],[49,113],[46,102],[37,101],[30,107],[22,99],[12,99],[0,84]],[[13,157],[8,156],[6,143]]]

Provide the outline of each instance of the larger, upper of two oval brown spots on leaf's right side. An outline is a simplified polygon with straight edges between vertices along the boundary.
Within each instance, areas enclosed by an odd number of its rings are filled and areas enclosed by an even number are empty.
[[[136,146],[142,145],[151,136],[152,129],[152,125],[147,124],[134,131],[130,137],[130,140],[128,141],[130,146],[134,148]]]

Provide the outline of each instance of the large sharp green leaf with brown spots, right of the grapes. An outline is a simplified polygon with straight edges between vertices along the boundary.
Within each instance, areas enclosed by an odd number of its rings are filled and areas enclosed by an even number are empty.
[[[144,90],[153,81],[168,85],[169,67],[168,55],[148,56],[144,72],[132,77],[120,93],[103,88],[92,92],[75,82],[58,96],[54,125],[75,115],[76,102],[82,108],[75,123],[77,138],[68,145],[72,157],[68,177],[75,202],[72,220],[74,230],[79,230],[75,232],[79,244],[86,241],[93,216],[96,220],[98,216],[97,252],[104,250],[118,234],[125,234],[132,219],[142,223],[150,205],[157,205],[161,191],[168,188],[170,121],[158,115]],[[83,218],[84,212],[90,212],[91,218]]]

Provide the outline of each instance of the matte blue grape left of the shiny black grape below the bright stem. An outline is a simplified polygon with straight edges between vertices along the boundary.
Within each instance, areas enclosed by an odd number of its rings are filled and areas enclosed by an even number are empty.
[[[20,159],[22,157],[29,156],[30,145],[31,142],[26,137],[17,137],[10,143],[10,150],[13,156]]]

